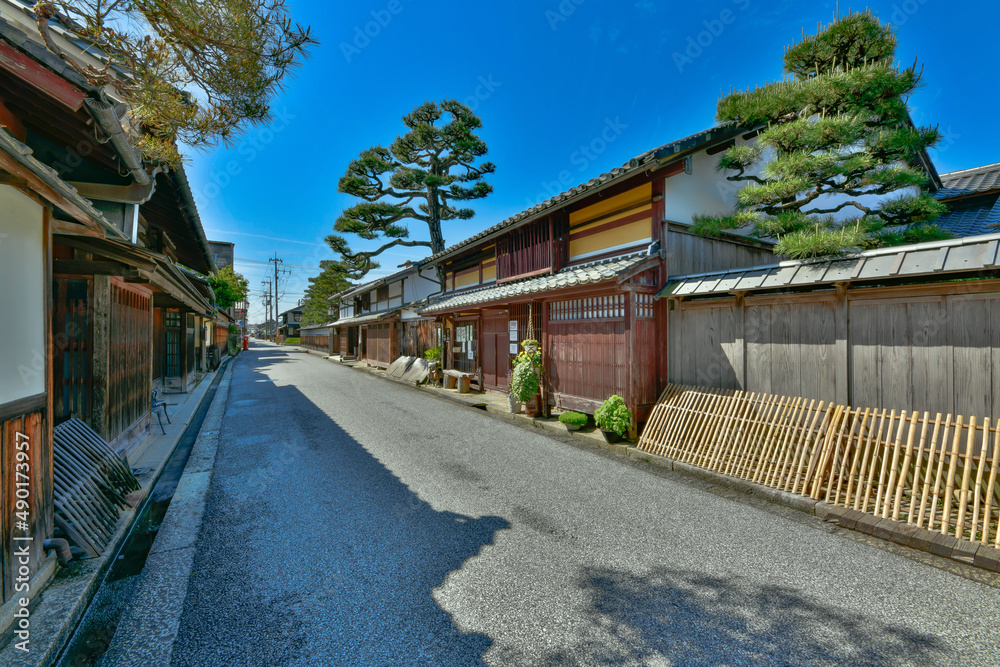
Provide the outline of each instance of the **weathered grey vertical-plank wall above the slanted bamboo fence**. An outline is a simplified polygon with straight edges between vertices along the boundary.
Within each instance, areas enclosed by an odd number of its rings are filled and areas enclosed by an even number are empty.
[[[674,384],[1000,415],[1000,281],[674,301]]]

